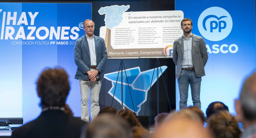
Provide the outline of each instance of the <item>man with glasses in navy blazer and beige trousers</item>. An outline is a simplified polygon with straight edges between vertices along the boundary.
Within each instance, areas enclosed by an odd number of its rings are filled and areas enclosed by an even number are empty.
[[[94,22],[84,21],[85,35],[76,39],[74,47],[77,71],[75,79],[79,79],[81,91],[81,119],[89,122],[89,89],[91,87],[91,119],[100,111],[99,95],[102,80],[104,79],[104,65],[108,54],[103,38],[95,36]],[[100,81],[99,81],[100,79]]]

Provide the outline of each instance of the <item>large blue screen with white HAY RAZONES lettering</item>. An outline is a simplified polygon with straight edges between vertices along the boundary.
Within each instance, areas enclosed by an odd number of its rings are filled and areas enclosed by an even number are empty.
[[[70,76],[67,103],[80,116],[74,44],[86,19],[92,19],[91,3],[0,3],[0,118],[36,118],[37,78],[56,66]]]

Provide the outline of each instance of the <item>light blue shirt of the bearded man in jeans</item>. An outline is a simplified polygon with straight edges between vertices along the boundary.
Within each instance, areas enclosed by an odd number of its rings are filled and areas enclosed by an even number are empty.
[[[184,55],[183,55],[183,63],[182,67],[194,67],[192,61],[192,33],[190,34],[189,39],[186,39],[183,34],[183,43],[184,43]]]

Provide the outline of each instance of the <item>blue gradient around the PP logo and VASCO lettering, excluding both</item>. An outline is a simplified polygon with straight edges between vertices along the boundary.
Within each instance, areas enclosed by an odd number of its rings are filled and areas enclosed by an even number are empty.
[[[221,101],[228,106],[230,113],[235,115],[234,99],[238,98],[245,77],[256,69],[255,0],[246,0],[246,2],[240,0],[175,1],[175,10],[182,10],[184,18],[192,20],[192,33],[200,36],[202,35],[198,30],[198,18],[204,10],[214,6],[228,11],[232,17],[233,27],[230,34],[220,41],[209,41],[203,37],[206,45],[209,45],[212,50],[214,44],[236,44],[238,51],[236,53],[208,53],[209,59],[205,66],[206,76],[202,77],[201,83],[201,109],[205,113],[210,103]],[[188,99],[188,105],[193,105],[190,89]],[[179,100],[176,81],[177,109]]]

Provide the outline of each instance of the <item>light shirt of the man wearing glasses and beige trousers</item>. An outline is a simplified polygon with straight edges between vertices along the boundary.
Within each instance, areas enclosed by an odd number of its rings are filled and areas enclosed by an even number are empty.
[[[91,65],[92,65],[92,66],[96,66],[97,63],[96,63],[96,53],[95,53],[94,35],[92,36],[91,39],[86,35],[86,38],[87,38],[88,45],[89,45],[89,49],[90,49]]]

